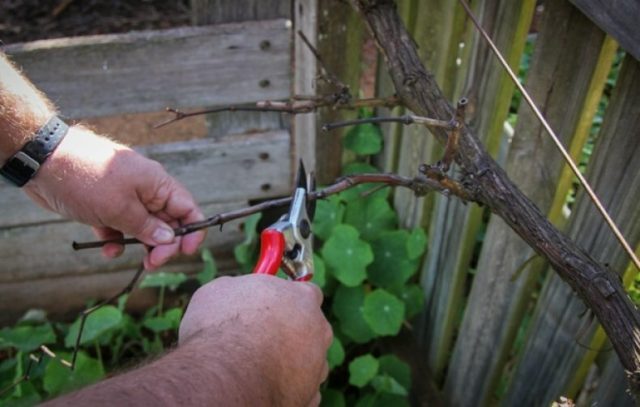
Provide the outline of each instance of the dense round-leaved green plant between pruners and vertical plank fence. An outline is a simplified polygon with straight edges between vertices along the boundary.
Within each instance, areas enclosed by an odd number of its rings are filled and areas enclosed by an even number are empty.
[[[378,172],[367,162],[382,147],[376,126],[354,127],[343,145],[358,157],[345,166],[345,175]],[[409,366],[378,349],[383,338],[398,335],[422,309],[415,277],[427,236],[419,228],[399,228],[389,190],[374,188],[358,185],[317,202],[312,282],[323,289],[334,332],[322,405],[409,405]],[[256,219],[247,220],[246,239],[235,250],[246,270],[255,264],[256,224]]]

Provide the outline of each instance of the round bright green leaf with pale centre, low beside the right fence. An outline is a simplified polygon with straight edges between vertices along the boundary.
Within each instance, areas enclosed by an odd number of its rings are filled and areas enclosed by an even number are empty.
[[[404,303],[383,289],[368,293],[362,315],[378,335],[397,335],[404,321]]]

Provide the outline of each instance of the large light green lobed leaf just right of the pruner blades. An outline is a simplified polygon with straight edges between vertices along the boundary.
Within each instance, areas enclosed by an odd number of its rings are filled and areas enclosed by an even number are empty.
[[[348,287],[362,284],[366,267],[373,261],[371,247],[349,225],[336,226],[321,253],[333,275]]]

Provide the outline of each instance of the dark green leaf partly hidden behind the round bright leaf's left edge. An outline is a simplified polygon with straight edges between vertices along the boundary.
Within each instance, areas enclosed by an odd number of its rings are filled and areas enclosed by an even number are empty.
[[[364,320],[364,287],[339,286],[333,297],[333,313],[340,321],[340,330],[357,343],[365,343],[375,337],[375,333]]]

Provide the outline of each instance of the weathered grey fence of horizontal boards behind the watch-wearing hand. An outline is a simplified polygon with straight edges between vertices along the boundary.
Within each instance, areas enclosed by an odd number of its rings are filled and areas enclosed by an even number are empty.
[[[70,119],[288,100],[292,90],[314,92],[315,59],[294,33],[301,29],[315,41],[316,8],[308,0],[194,0],[193,23],[207,25],[2,50]],[[209,137],[136,148],[161,162],[213,215],[289,193],[297,158],[314,166],[311,116],[297,118],[293,132],[289,118],[277,113],[238,115],[235,122],[227,117],[226,127],[210,118]],[[0,204],[0,323],[29,308],[55,314],[109,295],[126,285],[141,258],[141,248],[114,261],[98,251],[73,252],[73,240],[94,239],[88,228],[41,210],[6,183],[0,184]],[[231,248],[241,239],[238,222],[209,233],[206,245],[223,270],[235,267]],[[168,268],[200,267],[196,256]]]

